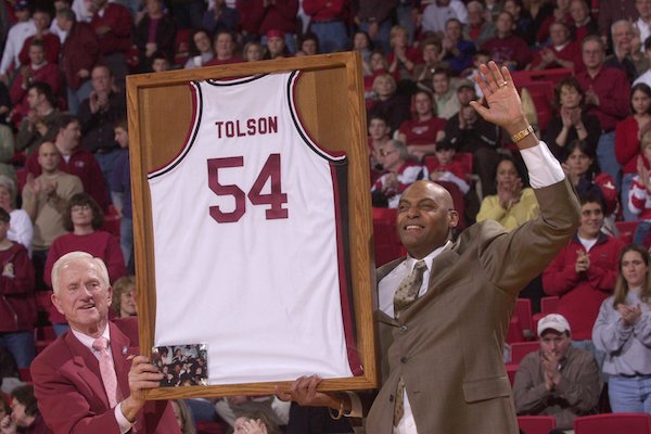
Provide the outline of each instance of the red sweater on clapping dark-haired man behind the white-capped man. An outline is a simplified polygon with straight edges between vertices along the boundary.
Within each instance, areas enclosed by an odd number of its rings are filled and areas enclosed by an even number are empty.
[[[542,272],[542,289],[547,295],[560,296],[558,312],[570,321],[572,339],[592,339],[592,326],[601,303],[612,294],[617,278],[617,256],[624,247],[620,239],[599,234],[590,248],[590,268],[576,273],[578,252],[586,252],[574,235]]]

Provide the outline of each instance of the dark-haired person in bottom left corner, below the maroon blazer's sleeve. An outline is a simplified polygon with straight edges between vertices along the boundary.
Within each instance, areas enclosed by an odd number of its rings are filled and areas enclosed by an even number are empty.
[[[51,434],[34,397],[34,386],[24,385],[11,392],[11,414],[0,421],[2,434]]]

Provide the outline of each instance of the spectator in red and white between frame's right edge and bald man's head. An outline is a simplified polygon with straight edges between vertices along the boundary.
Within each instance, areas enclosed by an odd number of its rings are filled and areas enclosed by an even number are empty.
[[[381,150],[382,175],[371,188],[373,206],[395,208],[400,194],[419,179],[427,179],[427,169],[409,157],[409,150],[399,140],[390,140]]]

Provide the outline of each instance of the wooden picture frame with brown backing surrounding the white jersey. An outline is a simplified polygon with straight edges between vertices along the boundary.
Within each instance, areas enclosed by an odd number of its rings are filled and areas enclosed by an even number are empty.
[[[151,195],[146,175],[174,158],[192,117],[192,80],[246,77],[301,71],[297,106],[310,136],[328,150],[348,157],[348,227],[359,376],[326,379],[320,390],[370,390],[379,385],[373,306],[376,306],[366,108],[361,60],[357,53],[333,53],[265,62],[141,74],[127,77],[135,258],[138,269],[140,352],[151,357],[155,331],[155,264]],[[306,367],[309,371],[309,367]],[[291,379],[288,379],[291,380]],[[158,387],[148,399],[200,396],[265,395],[286,382]]]

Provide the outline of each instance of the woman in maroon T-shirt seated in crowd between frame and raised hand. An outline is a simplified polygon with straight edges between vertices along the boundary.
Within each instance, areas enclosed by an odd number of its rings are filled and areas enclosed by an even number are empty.
[[[432,94],[419,90],[411,99],[413,119],[400,125],[398,140],[407,145],[409,154],[421,161],[436,151],[436,142],[445,136],[445,119],[436,117]]]

